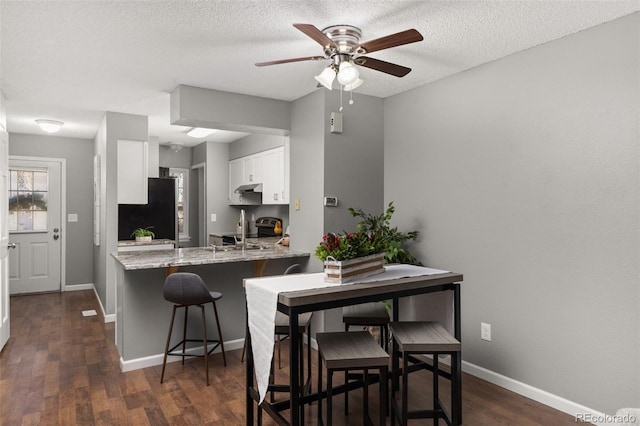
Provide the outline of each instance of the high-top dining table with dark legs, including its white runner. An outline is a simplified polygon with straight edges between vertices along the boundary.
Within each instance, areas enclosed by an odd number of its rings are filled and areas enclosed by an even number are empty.
[[[304,312],[339,308],[359,303],[391,300],[392,317],[399,319],[402,297],[441,291],[453,292],[453,328],[461,340],[460,284],[462,275],[414,265],[387,265],[383,273],[346,284],[328,283],[324,273],[247,278],[244,280],[247,298],[247,362],[246,362],[246,424],[254,424],[254,403],[278,424],[301,425],[304,404],[325,397],[325,392],[303,394],[299,377],[298,315]],[[273,357],[276,310],[289,316],[289,389],[290,399],[270,403],[264,400],[268,389]],[[254,381],[255,374],[255,381]],[[460,357],[451,366],[454,388],[453,424],[462,423],[462,369]],[[257,382],[257,387],[256,387]],[[452,401],[453,402],[453,401]],[[289,419],[281,412],[289,410]]]

